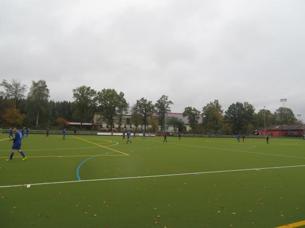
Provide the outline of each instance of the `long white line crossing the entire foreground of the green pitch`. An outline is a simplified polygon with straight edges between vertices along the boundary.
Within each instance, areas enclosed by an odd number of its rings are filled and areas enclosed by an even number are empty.
[[[32,185],[46,185],[46,184],[59,184],[59,183],[102,181],[102,180],[123,180],[123,179],[138,179],[138,178],[149,178],[149,177],[182,176],[182,175],[193,175],[193,174],[227,173],[227,172],[239,172],[239,171],[250,171],[250,170],[259,170],[260,171],[260,170],[264,170],[264,169],[284,169],[284,168],[294,168],[294,167],[305,167],[305,165],[280,166],[280,167],[265,167],[265,168],[251,168],[251,169],[235,169],[235,170],[220,170],[220,171],[195,172],[195,173],[175,173],[175,174],[164,174],[164,175],[154,175],[154,176],[132,176],[132,177],[116,177],[116,178],[91,179],[91,180],[70,180],[70,181],[58,181],[58,182],[44,182],[44,183],[32,183],[32,184],[6,185],[6,186],[0,186],[0,188],[4,188],[4,187],[32,186]]]

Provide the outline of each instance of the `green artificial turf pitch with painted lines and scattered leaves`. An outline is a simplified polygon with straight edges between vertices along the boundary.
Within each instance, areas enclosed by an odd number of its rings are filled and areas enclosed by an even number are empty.
[[[12,142],[4,138],[1,228],[245,228],[305,220],[305,140],[137,137],[126,144],[118,136],[29,135],[22,141],[27,160],[15,153],[6,162]]]

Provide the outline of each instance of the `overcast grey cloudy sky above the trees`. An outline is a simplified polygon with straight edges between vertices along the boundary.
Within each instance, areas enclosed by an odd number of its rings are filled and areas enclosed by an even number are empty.
[[[169,95],[172,111],[219,99],[305,120],[305,1],[1,0],[1,80]]]

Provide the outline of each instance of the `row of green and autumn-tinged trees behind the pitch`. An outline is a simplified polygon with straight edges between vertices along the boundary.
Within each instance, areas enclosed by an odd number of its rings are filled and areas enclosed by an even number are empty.
[[[142,97],[130,106],[123,92],[114,89],[96,91],[88,86],[73,89],[73,101],[53,101],[49,99],[49,89],[44,80],[32,81],[29,92],[27,86],[18,80],[0,84],[0,124],[35,128],[50,126],[64,127],[71,122],[93,122],[95,113],[101,114],[110,126],[123,125],[123,117],[131,113],[131,121],[136,128],[151,126],[152,131],[161,127],[165,130],[165,117],[171,112],[173,102],[162,95],[156,103]],[[296,124],[293,111],[279,107],[275,112],[255,108],[249,102],[232,103],[226,111],[218,100],[209,102],[201,111],[195,107],[185,107],[182,116],[188,118],[192,133],[233,134],[252,133],[253,130],[273,124]],[[166,125],[177,131],[185,131],[184,122],[171,118]]]

